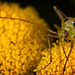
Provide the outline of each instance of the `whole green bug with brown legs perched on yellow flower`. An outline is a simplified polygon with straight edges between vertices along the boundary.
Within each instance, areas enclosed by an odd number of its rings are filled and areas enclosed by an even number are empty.
[[[48,35],[48,42],[49,42],[49,49],[50,49],[50,63],[52,62],[52,53],[51,53],[51,46],[50,46],[50,39],[49,37],[54,37],[54,38],[59,38],[59,40],[62,42],[64,42],[64,40],[66,41],[71,41],[71,47],[70,47],[70,51],[68,56],[66,55],[66,52],[64,50],[64,45],[62,44],[63,47],[63,52],[65,54],[66,57],[66,61],[64,64],[64,68],[63,68],[63,74],[65,71],[65,67],[68,61],[68,58],[71,54],[71,51],[73,49],[73,45],[74,45],[74,39],[75,39],[75,18],[72,17],[67,17],[62,11],[60,11],[56,6],[53,7],[55,12],[57,13],[57,15],[59,16],[60,20],[61,20],[61,27],[59,27],[58,25],[54,25],[57,28],[57,32],[54,32],[52,30],[49,30],[52,34]],[[48,65],[49,65],[48,64]],[[44,69],[48,66],[46,65],[44,67]]]

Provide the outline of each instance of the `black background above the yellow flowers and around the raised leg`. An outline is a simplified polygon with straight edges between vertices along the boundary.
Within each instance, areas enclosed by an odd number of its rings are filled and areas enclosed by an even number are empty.
[[[67,16],[75,16],[75,0],[2,0],[8,2],[19,3],[21,7],[28,5],[34,6],[39,12],[39,15],[44,18],[51,28],[54,28],[54,24],[61,25],[61,21],[53,10],[53,6],[56,5]]]

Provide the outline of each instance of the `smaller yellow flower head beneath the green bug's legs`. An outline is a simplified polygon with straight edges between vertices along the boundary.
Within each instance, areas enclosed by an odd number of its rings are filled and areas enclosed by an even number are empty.
[[[58,43],[58,40],[57,40]],[[66,54],[68,55],[70,51],[71,42],[65,42],[64,47]],[[42,52],[43,57],[39,63],[39,66],[34,71],[37,72],[37,75],[63,75],[63,67],[66,61],[66,57],[64,55],[62,45],[57,45],[53,43],[52,47],[52,63],[48,65],[50,62],[50,53],[45,50]],[[45,69],[44,67],[48,65]],[[73,46],[73,50],[70,54],[69,60],[66,64],[66,71],[64,71],[64,75],[75,75],[75,44]]]

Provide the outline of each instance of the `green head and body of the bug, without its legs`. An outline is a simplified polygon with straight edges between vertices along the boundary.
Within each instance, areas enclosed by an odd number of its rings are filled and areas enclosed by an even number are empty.
[[[61,37],[61,40],[72,39],[75,36],[75,18],[67,18],[62,21],[62,28],[58,32],[58,37]]]

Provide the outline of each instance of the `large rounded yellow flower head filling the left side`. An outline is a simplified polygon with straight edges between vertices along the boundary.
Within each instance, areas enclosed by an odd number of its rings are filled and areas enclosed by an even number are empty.
[[[47,48],[47,28],[33,7],[0,2],[0,75],[33,75]]]

